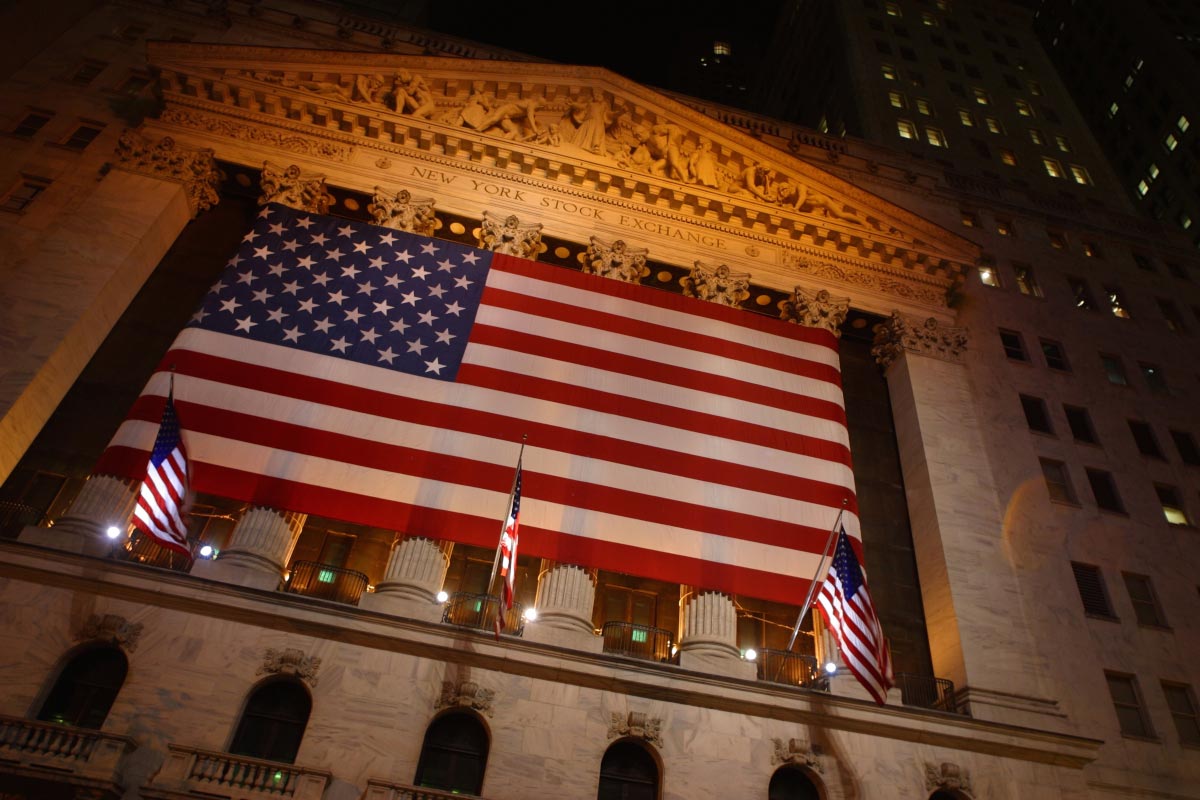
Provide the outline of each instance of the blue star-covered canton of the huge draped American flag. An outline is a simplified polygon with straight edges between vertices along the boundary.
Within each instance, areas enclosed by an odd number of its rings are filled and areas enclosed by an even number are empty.
[[[188,325],[454,380],[491,259],[271,204]]]

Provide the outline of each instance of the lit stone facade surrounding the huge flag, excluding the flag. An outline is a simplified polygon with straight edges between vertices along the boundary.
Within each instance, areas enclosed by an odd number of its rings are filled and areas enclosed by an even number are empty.
[[[427,103],[372,90],[402,72]],[[564,142],[583,92],[634,138]],[[1186,241],[320,4],[104,5],[5,96],[5,792],[1196,796]],[[106,539],[132,488],[84,479],[289,167],[335,216],[516,217],[564,270],[619,239],[644,284],[838,330],[888,704],[752,596],[526,558],[541,616],[497,642],[485,548],[220,497],[215,560]]]

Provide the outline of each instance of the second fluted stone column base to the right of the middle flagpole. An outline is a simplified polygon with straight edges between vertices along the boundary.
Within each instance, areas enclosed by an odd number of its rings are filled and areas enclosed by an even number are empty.
[[[738,650],[738,613],[733,600],[719,591],[680,587],[679,666],[754,680],[758,670]]]

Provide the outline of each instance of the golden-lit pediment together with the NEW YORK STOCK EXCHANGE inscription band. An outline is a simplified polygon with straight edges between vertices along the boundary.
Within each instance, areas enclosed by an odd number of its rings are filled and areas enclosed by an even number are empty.
[[[438,211],[647,248],[656,263],[949,318],[978,247],[820,167],[606,70],[152,42],[144,124],[224,162],[290,162]],[[486,206],[481,206],[481,199]]]

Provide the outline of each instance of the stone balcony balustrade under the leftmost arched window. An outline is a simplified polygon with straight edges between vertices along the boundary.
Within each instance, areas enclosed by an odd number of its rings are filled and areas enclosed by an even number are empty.
[[[116,783],[128,736],[0,715],[0,760]]]

